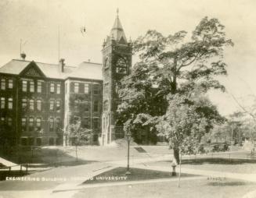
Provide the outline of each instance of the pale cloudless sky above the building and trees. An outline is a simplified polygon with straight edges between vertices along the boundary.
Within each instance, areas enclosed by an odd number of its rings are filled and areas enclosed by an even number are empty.
[[[235,45],[225,49],[228,76],[220,78],[228,93],[211,91],[209,97],[222,115],[241,110],[232,95],[250,108],[256,95],[254,0],[1,0],[0,65],[20,58],[20,39],[28,60],[57,63],[60,55],[67,65],[101,63],[117,8],[132,40],[150,29],[165,36],[191,32],[204,16],[218,18]]]

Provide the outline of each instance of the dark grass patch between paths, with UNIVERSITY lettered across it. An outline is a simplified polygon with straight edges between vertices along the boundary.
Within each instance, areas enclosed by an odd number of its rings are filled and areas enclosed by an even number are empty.
[[[171,176],[170,172],[166,171],[153,171],[142,168],[130,168],[131,175],[125,175],[126,168],[119,167],[110,171],[103,172],[94,176],[83,184],[103,183],[103,182],[128,182],[128,181],[140,181],[148,179],[177,179],[177,176]],[[182,177],[191,177],[196,175],[182,174]]]

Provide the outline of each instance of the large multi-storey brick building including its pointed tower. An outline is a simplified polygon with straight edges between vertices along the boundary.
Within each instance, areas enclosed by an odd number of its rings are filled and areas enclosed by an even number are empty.
[[[13,59],[0,68],[0,141],[28,146],[70,145],[67,126],[76,118],[92,129],[90,144],[122,137],[117,90],[131,72],[132,47],[120,19],[103,42],[103,65],[68,66]]]

